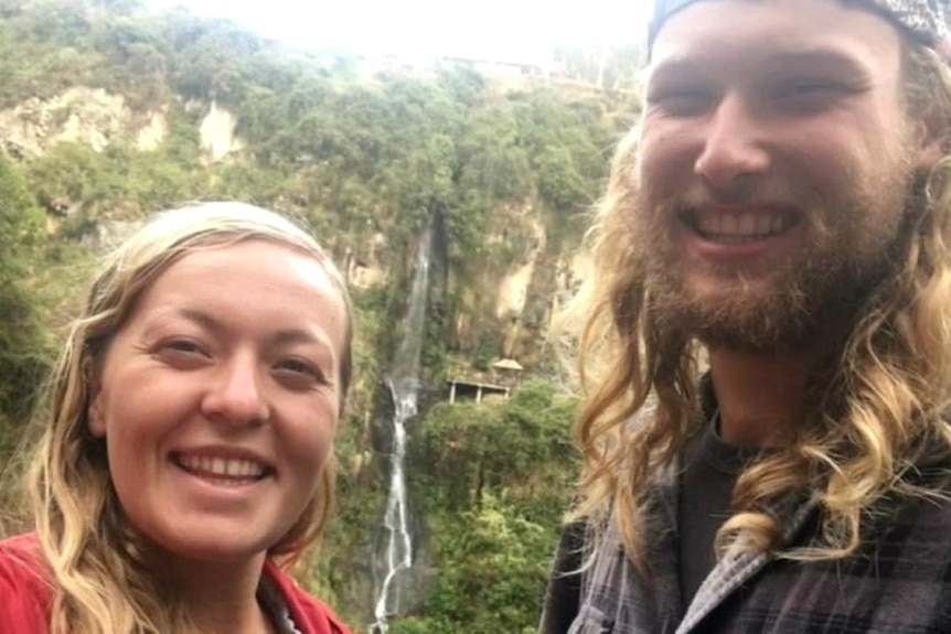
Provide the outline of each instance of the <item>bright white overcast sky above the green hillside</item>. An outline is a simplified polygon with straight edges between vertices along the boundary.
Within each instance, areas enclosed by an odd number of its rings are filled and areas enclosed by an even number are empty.
[[[541,62],[555,44],[640,40],[648,0],[151,0],[229,18],[299,46]]]

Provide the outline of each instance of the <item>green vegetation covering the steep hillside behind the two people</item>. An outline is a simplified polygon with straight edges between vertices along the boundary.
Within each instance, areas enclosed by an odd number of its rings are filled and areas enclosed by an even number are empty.
[[[543,357],[555,262],[577,246],[633,117],[634,97],[599,92],[589,77],[594,68],[602,85],[624,86],[626,65],[562,55],[571,82],[503,82],[458,64],[408,71],[293,51],[137,0],[0,0],[0,116],[21,108],[42,132],[34,144],[0,137],[0,469],[93,255],[124,227],[195,200],[301,218],[342,267],[383,271],[353,290],[339,517],[319,560],[303,566],[310,587],[362,628],[363,559],[386,495],[370,442],[373,393],[426,218],[439,214],[447,257],[424,347],[438,397],[446,367],[484,372],[503,354],[513,318],[496,314],[499,281],[536,248],[519,346],[523,361]],[[82,135],[61,138],[92,116],[87,104],[56,101],[76,87],[122,97],[95,114],[105,141],[95,149]],[[218,161],[200,135],[213,104],[234,115],[241,140]],[[150,119],[163,132],[141,149]],[[505,401],[436,402],[414,423],[409,486],[430,580],[425,605],[396,620],[394,634],[533,631],[575,474],[575,405],[562,387],[530,380]]]

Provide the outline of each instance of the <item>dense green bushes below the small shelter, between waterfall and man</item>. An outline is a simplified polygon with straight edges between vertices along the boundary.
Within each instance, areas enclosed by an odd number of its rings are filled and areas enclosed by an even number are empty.
[[[431,534],[421,614],[394,634],[534,632],[569,502],[577,400],[544,382],[507,400],[439,404],[410,445],[409,485]]]

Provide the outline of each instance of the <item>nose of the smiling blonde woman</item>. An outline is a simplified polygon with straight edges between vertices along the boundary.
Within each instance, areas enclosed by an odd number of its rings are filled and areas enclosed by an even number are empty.
[[[265,422],[270,417],[260,364],[252,354],[223,361],[207,386],[202,408],[205,416],[232,425]]]

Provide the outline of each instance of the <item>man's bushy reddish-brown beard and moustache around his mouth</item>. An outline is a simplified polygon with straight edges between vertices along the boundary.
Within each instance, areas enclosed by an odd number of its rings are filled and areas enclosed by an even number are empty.
[[[904,164],[902,164],[904,168]],[[808,244],[770,273],[768,286],[752,284],[762,271],[707,262],[707,276],[723,280],[723,291],[698,293],[690,270],[675,252],[670,228],[677,209],[706,202],[756,204],[776,200],[776,192],[748,191],[740,200],[712,200],[688,192],[634,221],[638,249],[647,275],[647,307],[659,333],[697,339],[710,348],[751,353],[792,352],[831,329],[846,327],[869,294],[895,271],[913,223],[907,206],[912,170],[893,170],[874,186],[853,187],[835,201],[797,201]],[[786,193],[787,195],[782,195]],[[643,208],[643,207],[642,207]]]

